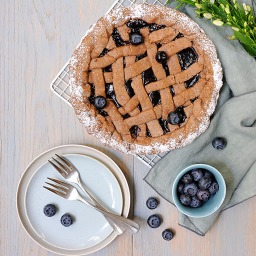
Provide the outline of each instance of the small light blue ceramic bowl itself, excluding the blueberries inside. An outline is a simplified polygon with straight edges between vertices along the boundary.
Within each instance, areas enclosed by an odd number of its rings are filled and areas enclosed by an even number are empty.
[[[200,206],[198,208],[191,208],[191,207],[181,204],[181,202],[179,201],[177,186],[178,186],[178,183],[179,183],[181,177],[185,173],[191,171],[192,169],[196,169],[196,168],[206,169],[209,172],[211,172],[219,184],[219,191],[214,196],[212,196],[207,202],[205,202],[202,206]],[[174,204],[176,205],[176,207],[178,208],[178,210],[181,211],[182,213],[184,213],[185,215],[187,215],[189,217],[193,217],[193,218],[203,218],[203,217],[209,216],[209,215],[213,214],[214,212],[216,212],[222,205],[222,203],[225,199],[225,196],[226,196],[226,184],[225,184],[225,180],[224,180],[223,176],[217,169],[215,169],[214,167],[207,165],[207,164],[194,164],[194,165],[190,165],[190,166],[186,167],[176,177],[176,179],[173,183],[173,187],[172,187],[173,201],[174,201]]]

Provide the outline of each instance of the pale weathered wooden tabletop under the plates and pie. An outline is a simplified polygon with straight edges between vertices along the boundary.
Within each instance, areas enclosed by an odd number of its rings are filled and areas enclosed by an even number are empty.
[[[131,216],[141,225],[95,256],[253,256],[256,255],[256,199],[221,214],[205,237],[177,224],[177,210],[143,178],[148,168],[139,160],[108,147],[85,132],[74,111],[53,95],[49,85],[71,56],[86,30],[113,0],[8,0],[0,5],[0,255],[52,256],[21,226],[16,189],[26,166],[40,153],[63,144],[85,144],[110,156],[124,171],[133,198]],[[156,196],[160,206],[145,201]],[[163,224],[150,229],[146,219],[159,213]],[[161,238],[165,228],[175,238]]]

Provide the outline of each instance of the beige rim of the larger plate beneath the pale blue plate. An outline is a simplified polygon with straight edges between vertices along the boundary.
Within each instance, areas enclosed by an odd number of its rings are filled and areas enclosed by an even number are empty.
[[[18,187],[17,187],[17,191],[16,191],[16,211],[18,213],[18,218],[20,220],[20,223],[22,224],[26,233],[32,238],[33,241],[35,241],[41,247],[45,248],[48,251],[51,251],[51,252],[54,252],[57,254],[62,254],[62,255],[81,255],[81,254],[87,255],[87,254],[96,252],[96,251],[104,248],[108,244],[110,244],[118,236],[118,233],[116,231],[113,231],[105,240],[103,240],[99,244],[96,244],[90,248],[79,249],[79,250],[73,250],[73,249],[69,250],[69,249],[60,248],[58,246],[54,246],[54,245],[50,244],[49,242],[46,242],[44,239],[42,239],[33,230],[33,226],[31,225],[31,223],[28,219],[25,219],[25,220],[23,219],[24,217],[26,217],[26,213],[24,214],[24,209],[22,209],[22,207],[24,208],[24,205],[25,205],[25,197],[22,198],[22,194],[19,193],[22,189],[22,183],[24,182],[24,179],[26,179],[26,175],[28,175],[28,170],[31,167],[33,167],[33,165],[37,161],[39,161],[42,157],[49,154],[50,152],[54,152],[56,150],[57,151],[62,151],[62,150],[65,151],[68,149],[71,150],[71,148],[73,150],[72,152],[67,151],[64,154],[78,154],[78,155],[80,154],[80,155],[91,157],[94,160],[99,161],[101,164],[105,165],[109,169],[109,171],[115,176],[115,178],[117,179],[117,181],[120,185],[120,189],[122,192],[122,198],[123,198],[122,215],[125,217],[128,216],[129,210],[130,210],[131,195],[130,195],[130,189],[129,189],[127,179],[126,179],[124,173],[122,172],[121,168],[105,153],[103,153],[93,147],[86,146],[86,145],[79,145],[79,144],[65,144],[65,145],[50,148],[50,149],[44,151],[43,153],[41,153],[40,155],[38,155],[36,158],[34,158],[28,164],[28,166],[25,168],[24,172],[22,173],[21,178],[18,183]],[[76,152],[74,152],[74,151],[76,151]],[[88,152],[90,152],[91,154],[88,155]],[[36,172],[36,171],[34,171],[34,172]],[[33,174],[34,174],[34,172],[33,172]],[[27,177],[27,178],[29,178],[29,177]],[[29,178],[29,180],[31,180],[31,177]],[[26,193],[26,190],[25,190],[25,193]],[[24,193],[24,195],[25,195],[25,193]]]

